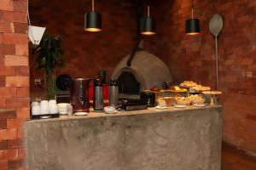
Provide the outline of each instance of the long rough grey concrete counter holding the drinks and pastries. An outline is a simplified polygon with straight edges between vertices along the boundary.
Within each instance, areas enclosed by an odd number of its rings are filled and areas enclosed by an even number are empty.
[[[32,170],[220,170],[222,107],[26,122]]]

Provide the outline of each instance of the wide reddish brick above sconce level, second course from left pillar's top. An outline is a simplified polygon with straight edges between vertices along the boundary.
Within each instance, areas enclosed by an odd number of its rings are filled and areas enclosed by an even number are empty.
[[[8,22],[26,23],[26,12],[4,11],[3,20]]]

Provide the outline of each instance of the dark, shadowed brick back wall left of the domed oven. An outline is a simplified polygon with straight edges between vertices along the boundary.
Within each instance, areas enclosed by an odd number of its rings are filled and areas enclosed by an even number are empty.
[[[84,28],[84,13],[91,10],[90,0],[29,1],[32,25],[46,26],[46,33],[61,35],[66,67],[57,69],[56,75],[68,73],[72,77],[96,77],[105,70],[108,77],[114,67],[135,45],[137,33],[136,8],[129,1],[95,1],[96,11],[102,14],[100,33],[88,33]],[[61,12],[60,12],[61,11]],[[31,60],[31,80],[43,78],[36,72]],[[32,82],[32,89],[33,89]]]

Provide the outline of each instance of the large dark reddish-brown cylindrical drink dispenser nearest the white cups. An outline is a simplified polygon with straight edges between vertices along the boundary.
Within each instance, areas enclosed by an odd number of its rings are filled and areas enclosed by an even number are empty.
[[[89,83],[91,79],[76,78],[72,80],[71,105],[74,112],[89,112]]]

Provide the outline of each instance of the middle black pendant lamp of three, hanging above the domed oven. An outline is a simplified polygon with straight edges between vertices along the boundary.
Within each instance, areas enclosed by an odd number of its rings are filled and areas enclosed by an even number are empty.
[[[151,18],[149,15],[150,15],[150,8],[148,6],[148,15],[147,17],[142,18],[141,26],[140,26],[141,34],[145,36],[152,36],[156,32],[154,19]]]

